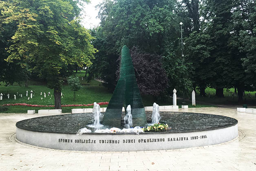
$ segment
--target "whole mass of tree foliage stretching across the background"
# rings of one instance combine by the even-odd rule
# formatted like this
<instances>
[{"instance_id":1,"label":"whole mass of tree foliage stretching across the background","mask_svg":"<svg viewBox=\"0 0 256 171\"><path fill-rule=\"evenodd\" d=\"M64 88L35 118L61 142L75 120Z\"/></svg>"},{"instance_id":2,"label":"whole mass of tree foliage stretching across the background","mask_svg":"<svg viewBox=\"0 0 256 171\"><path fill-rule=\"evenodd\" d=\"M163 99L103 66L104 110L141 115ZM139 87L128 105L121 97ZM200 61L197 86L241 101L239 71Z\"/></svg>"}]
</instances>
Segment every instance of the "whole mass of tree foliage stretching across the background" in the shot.
<instances>
[{"instance_id":1,"label":"whole mass of tree foliage stretching across the background","mask_svg":"<svg viewBox=\"0 0 256 171\"><path fill-rule=\"evenodd\" d=\"M0 81L34 72L60 97L72 66L87 66L88 80L101 79L113 91L126 44L139 47L131 53L145 94L198 88L205 96L211 87L223 97L223 88L235 87L242 103L245 90L256 90L254 0L104 0L97 6L100 26L90 31L95 39L79 24L79 2L0 1Z\"/></svg>"}]
</instances>

